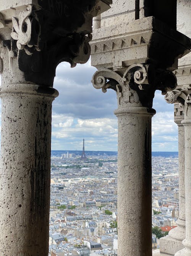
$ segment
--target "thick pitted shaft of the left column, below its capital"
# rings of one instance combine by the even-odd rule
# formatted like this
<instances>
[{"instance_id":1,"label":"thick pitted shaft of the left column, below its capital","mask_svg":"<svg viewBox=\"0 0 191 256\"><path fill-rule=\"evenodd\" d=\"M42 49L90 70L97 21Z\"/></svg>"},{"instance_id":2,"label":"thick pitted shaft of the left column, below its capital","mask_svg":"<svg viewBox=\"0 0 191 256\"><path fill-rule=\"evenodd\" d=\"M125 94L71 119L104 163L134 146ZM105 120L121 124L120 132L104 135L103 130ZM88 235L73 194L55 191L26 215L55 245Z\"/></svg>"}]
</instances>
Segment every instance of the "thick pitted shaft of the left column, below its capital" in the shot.
<instances>
[{"instance_id":1,"label":"thick pitted shaft of the left column, below its capital","mask_svg":"<svg viewBox=\"0 0 191 256\"><path fill-rule=\"evenodd\" d=\"M56 93L46 88L45 94L32 84L7 88L1 89L0 251L4 256L48 255L51 111Z\"/></svg>"}]
</instances>

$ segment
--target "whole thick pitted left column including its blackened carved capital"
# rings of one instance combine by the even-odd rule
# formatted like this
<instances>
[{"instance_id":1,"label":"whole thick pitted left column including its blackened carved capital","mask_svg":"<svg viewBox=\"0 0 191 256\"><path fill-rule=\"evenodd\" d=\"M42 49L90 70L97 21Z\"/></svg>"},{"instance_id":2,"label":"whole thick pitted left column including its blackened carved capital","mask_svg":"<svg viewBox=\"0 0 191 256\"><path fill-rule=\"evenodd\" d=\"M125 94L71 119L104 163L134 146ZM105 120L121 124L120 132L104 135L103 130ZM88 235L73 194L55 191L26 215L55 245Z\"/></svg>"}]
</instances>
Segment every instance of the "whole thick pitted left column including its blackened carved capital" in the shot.
<instances>
[{"instance_id":1,"label":"whole thick pitted left column including its blackened carved capital","mask_svg":"<svg viewBox=\"0 0 191 256\"><path fill-rule=\"evenodd\" d=\"M55 69L61 61L75 66L89 59L92 18L109 3L0 0L3 256L48 255Z\"/></svg>"}]
</instances>

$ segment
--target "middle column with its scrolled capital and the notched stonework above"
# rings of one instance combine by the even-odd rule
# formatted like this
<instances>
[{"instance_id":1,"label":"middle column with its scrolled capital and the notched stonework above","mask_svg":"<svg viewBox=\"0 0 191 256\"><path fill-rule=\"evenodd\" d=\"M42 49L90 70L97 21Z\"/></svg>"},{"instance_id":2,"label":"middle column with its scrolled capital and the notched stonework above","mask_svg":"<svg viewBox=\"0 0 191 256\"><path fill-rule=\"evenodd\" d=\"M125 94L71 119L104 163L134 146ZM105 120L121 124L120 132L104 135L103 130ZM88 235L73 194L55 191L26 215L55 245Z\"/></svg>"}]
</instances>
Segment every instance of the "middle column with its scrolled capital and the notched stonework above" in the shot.
<instances>
[{"instance_id":1,"label":"middle column with its scrolled capital and the notched stonework above","mask_svg":"<svg viewBox=\"0 0 191 256\"><path fill-rule=\"evenodd\" d=\"M174 1L164 8L157 0L115 0L93 27L92 83L118 99L118 256L152 255L152 100L155 90L175 88L171 71L189 47L176 31Z\"/></svg>"}]
</instances>

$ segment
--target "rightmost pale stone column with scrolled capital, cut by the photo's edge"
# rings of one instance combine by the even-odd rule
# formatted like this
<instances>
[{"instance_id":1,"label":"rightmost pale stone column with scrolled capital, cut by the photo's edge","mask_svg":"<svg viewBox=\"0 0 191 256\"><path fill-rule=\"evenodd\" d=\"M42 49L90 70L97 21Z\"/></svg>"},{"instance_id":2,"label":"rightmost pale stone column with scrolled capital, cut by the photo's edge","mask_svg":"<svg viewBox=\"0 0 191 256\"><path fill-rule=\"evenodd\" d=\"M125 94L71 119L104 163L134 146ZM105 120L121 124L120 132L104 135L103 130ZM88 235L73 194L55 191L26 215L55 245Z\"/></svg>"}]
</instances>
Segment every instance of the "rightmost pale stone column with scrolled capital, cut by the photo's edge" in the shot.
<instances>
[{"instance_id":1,"label":"rightmost pale stone column with scrolled capital, cut by the photo's edge","mask_svg":"<svg viewBox=\"0 0 191 256\"><path fill-rule=\"evenodd\" d=\"M178 79L180 80L180 79ZM187 83L189 81L189 76L181 76L181 81L184 81ZM184 228L184 220L185 220L185 226L186 226L186 238L183 240L183 246L185 248L176 251L175 256L190 256L191 255L191 213L190 213L190 205L191 205L191 180L190 180L190 169L191 169L191 160L190 160L190 129L191 129L191 86L188 84L184 84L181 86L178 86L177 89L173 90L170 93L167 93L165 96L167 102L175 103L180 102L180 105L183 107L184 111L184 120L181 121L181 139L182 141L185 140L185 152L180 151L180 154L185 153L185 206L184 206L184 188L180 188L180 207L182 207L180 211L180 221L178 222L178 231L180 234L176 233L176 230L174 230L174 233L172 235L176 236L177 240L183 236L183 228ZM184 129L184 130L183 130ZM182 137L184 135L184 138ZM179 150L183 150L183 148L180 145ZM180 162L182 164L184 162ZM181 165L180 165L181 166ZM182 165L183 166L183 165ZM183 171L181 172L183 173ZM184 186L183 178L180 177L180 182L182 186ZM171 235L171 234L170 234ZM177 244L177 243L176 243Z\"/></svg>"}]
</instances>

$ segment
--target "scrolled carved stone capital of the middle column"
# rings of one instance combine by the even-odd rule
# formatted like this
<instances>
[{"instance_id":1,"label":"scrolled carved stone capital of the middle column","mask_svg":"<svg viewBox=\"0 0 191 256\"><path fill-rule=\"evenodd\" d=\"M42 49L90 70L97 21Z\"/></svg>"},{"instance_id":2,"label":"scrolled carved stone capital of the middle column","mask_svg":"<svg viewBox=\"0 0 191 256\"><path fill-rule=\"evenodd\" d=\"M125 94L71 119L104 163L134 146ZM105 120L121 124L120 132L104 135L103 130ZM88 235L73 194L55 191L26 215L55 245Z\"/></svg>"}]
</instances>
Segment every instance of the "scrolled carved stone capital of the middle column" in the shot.
<instances>
[{"instance_id":1,"label":"scrolled carved stone capital of the middle column","mask_svg":"<svg viewBox=\"0 0 191 256\"><path fill-rule=\"evenodd\" d=\"M99 69L92 78L96 89L113 89L117 93L118 107L152 107L155 90L165 94L176 87L176 77L172 72L156 73L152 64L133 64L123 75L110 69Z\"/></svg>"}]
</instances>

